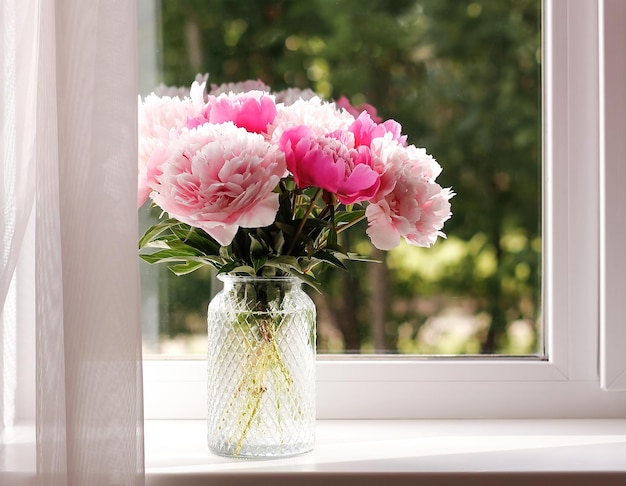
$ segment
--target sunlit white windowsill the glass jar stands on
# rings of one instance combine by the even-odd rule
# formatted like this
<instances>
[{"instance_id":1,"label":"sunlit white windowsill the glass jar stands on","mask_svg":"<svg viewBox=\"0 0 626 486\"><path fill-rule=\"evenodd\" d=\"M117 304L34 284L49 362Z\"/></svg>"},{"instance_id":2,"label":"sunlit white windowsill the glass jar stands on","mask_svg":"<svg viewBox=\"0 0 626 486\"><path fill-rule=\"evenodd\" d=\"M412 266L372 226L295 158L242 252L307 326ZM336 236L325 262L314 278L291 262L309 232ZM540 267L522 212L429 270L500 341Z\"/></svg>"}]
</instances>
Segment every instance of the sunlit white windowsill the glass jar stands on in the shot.
<instances>
[{"instance_id":1,"label":"sunlit white windowsill the glass jar stands on","mask_svg":"<svg viewBox=\"0 0 626 486\"><path fill-rule=\"evenodd\" d=\"M625 419L323 420L313 452L267 461L212 455L201 420L150 420L145 434L147 486L626 484Z\"/></svg>"}]
</instances>

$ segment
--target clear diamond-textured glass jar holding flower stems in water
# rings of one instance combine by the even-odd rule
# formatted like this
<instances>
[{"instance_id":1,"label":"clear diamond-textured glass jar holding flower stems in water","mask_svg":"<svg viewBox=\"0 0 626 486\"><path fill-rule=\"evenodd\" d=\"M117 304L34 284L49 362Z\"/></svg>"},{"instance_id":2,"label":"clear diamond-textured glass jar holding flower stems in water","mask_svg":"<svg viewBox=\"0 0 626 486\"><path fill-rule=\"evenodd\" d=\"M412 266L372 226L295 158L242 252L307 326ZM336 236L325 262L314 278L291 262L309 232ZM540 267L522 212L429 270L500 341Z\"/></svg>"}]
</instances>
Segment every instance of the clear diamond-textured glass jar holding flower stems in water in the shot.
<instances>
[{"instance_id":1,"label":"clear diamond-textured glass jar holding flower stems in water","mask_svg":"<svg viewBox=\"0 0 626 486\"><path fill-rule=\"evenodd\" d=\"M208 312L208 444L280 457L315 442L315 305L292 277L220 275Z\"/></svg>"}]
</instances>

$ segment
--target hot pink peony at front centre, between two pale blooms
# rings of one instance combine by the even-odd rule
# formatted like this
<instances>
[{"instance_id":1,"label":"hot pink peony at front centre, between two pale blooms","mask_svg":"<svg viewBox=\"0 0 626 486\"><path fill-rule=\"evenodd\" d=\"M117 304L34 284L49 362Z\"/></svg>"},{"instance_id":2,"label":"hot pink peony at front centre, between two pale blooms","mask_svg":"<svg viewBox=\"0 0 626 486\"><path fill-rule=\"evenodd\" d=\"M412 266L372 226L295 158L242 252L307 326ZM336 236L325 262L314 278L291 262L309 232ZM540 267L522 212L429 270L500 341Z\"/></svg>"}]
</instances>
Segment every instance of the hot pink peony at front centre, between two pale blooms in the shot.
<instances>
[{"instance_id":1,"label":"hot pink peony at front centre, between two pale blooms","mask_svg":"<svg viewBox=\"0 0 626 486\"><path fill-rule=\"evenodd\" d=\"M316 137L306 126L283 133L279 147L298 187L322 188L336 194L343 204L367 201L376 194L380 177L372 168L369 150L354 149L347 135L335 132Z\"/></svg>"}]
</instances>

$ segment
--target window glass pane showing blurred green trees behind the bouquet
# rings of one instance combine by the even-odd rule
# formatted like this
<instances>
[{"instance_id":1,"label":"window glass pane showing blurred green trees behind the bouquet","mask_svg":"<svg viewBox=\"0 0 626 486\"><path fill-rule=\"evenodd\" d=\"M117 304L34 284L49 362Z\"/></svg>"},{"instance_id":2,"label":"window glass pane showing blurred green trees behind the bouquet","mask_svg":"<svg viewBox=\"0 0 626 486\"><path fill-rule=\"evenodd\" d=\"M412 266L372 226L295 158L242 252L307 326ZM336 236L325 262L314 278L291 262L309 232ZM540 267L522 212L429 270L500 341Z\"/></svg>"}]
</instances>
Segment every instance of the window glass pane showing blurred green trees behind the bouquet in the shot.
<instances>
[{"instance_id":1,"label":"window glass pane showing blurred green trees behind the bouquet","mask_svg":"<svg viewBox=\"0 0 626 486\"><path fill-rule=\"evenodd\" d=\"M141 0L140 90L259 79L369 103L452 187L446 240L312 292L320 353L542 355L540 0ZM158 213L140 209L142 225ZM210 269L142 263L146 353L205 352Z\"/></svg>"}]
</instances>

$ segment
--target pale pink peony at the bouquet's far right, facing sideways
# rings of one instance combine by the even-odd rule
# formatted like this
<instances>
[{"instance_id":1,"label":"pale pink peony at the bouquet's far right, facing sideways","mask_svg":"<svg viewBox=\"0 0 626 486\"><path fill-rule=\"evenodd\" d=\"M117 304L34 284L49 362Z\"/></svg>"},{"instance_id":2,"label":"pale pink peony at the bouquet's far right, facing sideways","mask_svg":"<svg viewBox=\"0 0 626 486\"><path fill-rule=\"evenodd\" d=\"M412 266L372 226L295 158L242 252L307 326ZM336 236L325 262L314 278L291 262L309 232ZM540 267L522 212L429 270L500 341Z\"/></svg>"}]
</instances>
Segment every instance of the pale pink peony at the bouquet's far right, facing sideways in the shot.
<instances>
[{"instance_id":1,"label":"pale pink peony at the bouquet's far right, facing sideways","mask_svg":"<svg viewBox=\"0 0 626 486\"><path fill-rule=\"evenodd\" d=\"M384 164L380 190L365 210L367 234L379 250L407 243L429 247L452 213L454 193L435 182L441 167L424 149L402 147L389 138L373 142L372 152Z\"/></svg>"}]
</instances>

